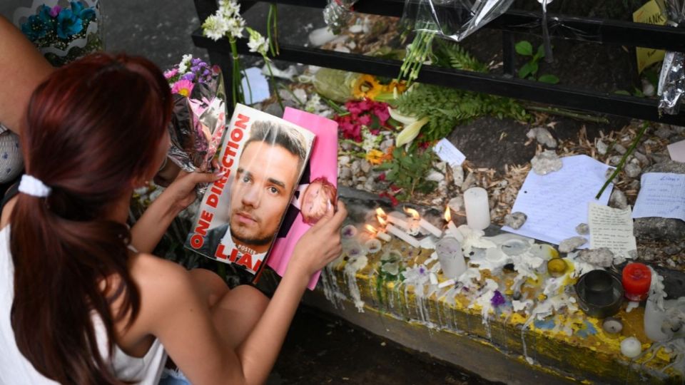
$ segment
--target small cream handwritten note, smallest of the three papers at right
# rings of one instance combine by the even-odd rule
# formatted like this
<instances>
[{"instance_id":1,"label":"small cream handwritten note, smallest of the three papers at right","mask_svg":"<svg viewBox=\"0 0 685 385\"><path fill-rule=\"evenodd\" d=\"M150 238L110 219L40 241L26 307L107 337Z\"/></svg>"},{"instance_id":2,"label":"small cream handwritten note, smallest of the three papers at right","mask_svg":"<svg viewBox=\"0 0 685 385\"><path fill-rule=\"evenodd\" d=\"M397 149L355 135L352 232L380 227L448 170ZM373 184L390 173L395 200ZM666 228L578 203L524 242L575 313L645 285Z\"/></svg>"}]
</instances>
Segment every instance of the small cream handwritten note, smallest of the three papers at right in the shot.
<instances>
[{"instance_id":1,"label":"small cream handwritten note, smallest of the three papers at right","mask_svg":"<svg viewBox=\"0 0 685 385\"><path fill-rule=\"evenodd\" d=\"M607 247L614 255L626 258L630 250L637 250L630 207L621 210L591 202L587 216L590 247Z\"/></svg>"}]
</instances>

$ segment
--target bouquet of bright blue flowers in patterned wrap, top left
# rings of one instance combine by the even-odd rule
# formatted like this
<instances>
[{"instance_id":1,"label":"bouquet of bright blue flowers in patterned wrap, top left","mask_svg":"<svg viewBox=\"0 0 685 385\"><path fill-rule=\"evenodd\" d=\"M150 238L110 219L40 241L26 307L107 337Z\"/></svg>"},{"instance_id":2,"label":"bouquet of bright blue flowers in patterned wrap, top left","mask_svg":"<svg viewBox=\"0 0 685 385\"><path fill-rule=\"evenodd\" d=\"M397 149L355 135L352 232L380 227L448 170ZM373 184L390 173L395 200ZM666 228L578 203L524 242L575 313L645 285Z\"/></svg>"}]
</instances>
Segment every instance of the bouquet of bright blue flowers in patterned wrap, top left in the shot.
<instances>
[{"instance_id":1,"label":"bouquet of bright blue flowers in patterned wrap, top left","mask_svg":"<svg viewBox=\"0 0 685 385\"><path fill-rule=\"evenodd\" d=\"M54 3L54 4L53 4ZM36 9L21 8L14 13L14 24L43 53L53 66L103 48L98 26L98 0L71 1L63 8L51 0Z\"/></svg>"}]
</instances>

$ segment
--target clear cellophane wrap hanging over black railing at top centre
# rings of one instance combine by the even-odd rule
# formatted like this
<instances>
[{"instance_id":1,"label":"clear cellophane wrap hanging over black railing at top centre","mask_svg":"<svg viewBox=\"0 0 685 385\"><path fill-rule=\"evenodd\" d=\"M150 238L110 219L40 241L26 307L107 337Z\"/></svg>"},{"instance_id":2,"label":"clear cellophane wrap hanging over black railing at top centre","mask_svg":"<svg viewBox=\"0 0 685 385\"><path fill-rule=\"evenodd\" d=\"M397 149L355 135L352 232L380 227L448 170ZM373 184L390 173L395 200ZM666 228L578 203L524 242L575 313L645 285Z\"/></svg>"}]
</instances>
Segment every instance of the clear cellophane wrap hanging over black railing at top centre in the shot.
<instances>
[{"instance_id":1,"label":"clear cellophane wrap hanging over black railing at top centre","mask_svg":"<svg viewBox=\"0 0 685 385\"><path fill-rule=\"evenodd\" d=\"M402 23L414 31L429 31L445 39L466 36L504 14L514 0L405 0Z\"/></svg>"}]
</instances>

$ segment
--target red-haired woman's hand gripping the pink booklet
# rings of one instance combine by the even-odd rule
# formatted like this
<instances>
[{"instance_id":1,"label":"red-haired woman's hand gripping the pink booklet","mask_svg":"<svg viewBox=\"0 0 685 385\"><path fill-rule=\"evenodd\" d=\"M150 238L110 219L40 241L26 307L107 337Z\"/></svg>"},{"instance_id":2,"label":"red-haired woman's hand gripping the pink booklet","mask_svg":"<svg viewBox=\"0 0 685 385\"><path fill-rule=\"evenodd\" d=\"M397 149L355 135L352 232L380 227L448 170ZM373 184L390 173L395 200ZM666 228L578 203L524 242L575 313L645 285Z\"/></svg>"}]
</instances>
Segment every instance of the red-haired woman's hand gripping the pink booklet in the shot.
<instances>
[{"instance_id":1,"label":"red-haired woman's hand gripping the pink booklet","mask_svg":"<svg viewBox=\"0 0 685 385\"><path fill-rule=\"evenodd\" d=\"M298 240L288 270L302 272L309 278L340 256L340 225L345 217L345 204L338 201L338 212L333 214L331 207L331 210Z\"/></svg>"}]
</instances>

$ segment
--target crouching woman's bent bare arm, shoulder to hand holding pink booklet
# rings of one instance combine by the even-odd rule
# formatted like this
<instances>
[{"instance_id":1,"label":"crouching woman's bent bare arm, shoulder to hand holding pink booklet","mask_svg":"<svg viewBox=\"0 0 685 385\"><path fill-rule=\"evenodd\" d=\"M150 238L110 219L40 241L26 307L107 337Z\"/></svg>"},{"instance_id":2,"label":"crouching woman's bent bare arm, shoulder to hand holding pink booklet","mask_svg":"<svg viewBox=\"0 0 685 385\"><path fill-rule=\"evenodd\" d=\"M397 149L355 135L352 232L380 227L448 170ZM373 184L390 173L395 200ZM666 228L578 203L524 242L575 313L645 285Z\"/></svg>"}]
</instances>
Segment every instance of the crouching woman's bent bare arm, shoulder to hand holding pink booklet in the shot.
<instances>
[{"instance_id":1,"label":"crouching woman's bent bare arm, shoulder to hand holding pink booklet","mask_svg":"<svg viewBox=\"0 0 685 385\"><path fill-rule=\"evenodd\" d=\"M335 215L321 220L300 238L273 299L237 348L232 327L239 315L222 309L220 302L210 312L205 299L181 272L157 283L154 279L141 283L141 309L146 310L136 322L151 325L151 334L161 339L193 384L263 384L311 275L340 255L340 225L345 215L340 204ZM151 296L161 299L155 301ZM152 308L159 310L151 314Z\"/></svg>"}]
</instances>

